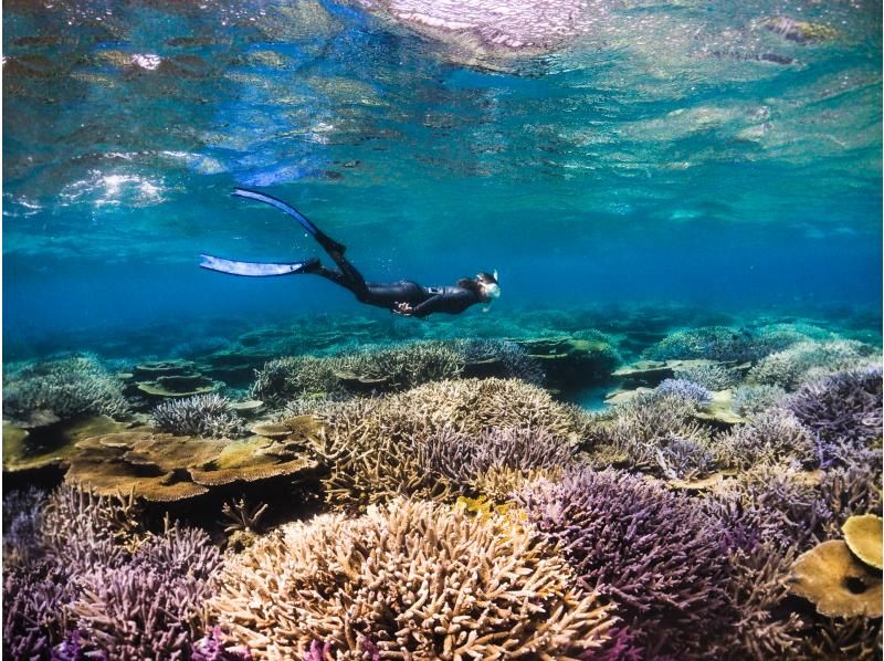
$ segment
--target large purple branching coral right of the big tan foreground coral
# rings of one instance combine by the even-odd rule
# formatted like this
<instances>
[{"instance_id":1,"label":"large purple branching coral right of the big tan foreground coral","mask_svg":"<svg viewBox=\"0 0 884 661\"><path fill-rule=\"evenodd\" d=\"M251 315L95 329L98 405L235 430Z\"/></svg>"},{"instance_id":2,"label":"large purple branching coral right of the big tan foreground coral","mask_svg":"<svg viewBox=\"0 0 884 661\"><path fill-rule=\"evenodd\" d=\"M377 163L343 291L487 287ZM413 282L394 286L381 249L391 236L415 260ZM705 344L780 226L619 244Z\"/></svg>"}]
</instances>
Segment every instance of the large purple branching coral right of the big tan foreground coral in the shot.
<instances>
[{"instance_id":1,"label":"large purple branching coral right of the big tan foreground coral","mask_svg":"<svg viewBox=\"0 0 884 661\"><path fill-rule=\"evenodd\" d=\"M518 500L579 585L610 596L648 653L684 658L728 628L722 529L685 496L613 471L573 470ZM649 570L653 567L653 570Z\"/></svg>"}]
</instances>

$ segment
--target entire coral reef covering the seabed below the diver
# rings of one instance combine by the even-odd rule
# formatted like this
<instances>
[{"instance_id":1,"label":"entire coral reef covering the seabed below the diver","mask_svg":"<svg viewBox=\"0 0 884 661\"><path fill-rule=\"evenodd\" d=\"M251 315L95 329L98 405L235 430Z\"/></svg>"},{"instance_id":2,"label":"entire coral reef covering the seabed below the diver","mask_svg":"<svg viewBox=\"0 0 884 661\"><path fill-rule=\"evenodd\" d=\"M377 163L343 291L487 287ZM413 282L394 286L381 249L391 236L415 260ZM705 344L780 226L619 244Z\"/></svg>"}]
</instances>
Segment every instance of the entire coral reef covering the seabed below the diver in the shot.
<instances>
[{"instance_id":1,"label":"entire coral reef covering the seabed below the diver","mask_svg":"<svg viewBox=\"0 0 884 661\"><path fill-rule=\"evenodd\" d=\"M4 655L880 658L876 349L587 318L10 366Z\"/></svg>"}]
</instances>

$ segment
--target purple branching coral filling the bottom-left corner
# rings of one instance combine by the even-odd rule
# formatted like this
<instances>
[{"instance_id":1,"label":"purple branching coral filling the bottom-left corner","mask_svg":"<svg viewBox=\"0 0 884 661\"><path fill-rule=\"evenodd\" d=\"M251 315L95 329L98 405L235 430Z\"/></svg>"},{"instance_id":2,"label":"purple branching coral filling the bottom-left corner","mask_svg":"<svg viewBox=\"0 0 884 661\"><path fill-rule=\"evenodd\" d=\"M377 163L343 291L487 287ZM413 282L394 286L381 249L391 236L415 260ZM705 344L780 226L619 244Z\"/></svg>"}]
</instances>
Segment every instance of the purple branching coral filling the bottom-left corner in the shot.
<instances>
[{"instance_id":1,"label":"purple branching coral filling the bottom-left corner","mask_svg":"<svg viewBox=\"0 0 884 661\"><path fill-rule=\"evenodd\" d=\"M4 555L17 558L3 585L10 654L170 659L190 649L220 550L200 531L146 533L134 506L69 486L40 505L31 552Z\"/></svg>"}]
</instances>

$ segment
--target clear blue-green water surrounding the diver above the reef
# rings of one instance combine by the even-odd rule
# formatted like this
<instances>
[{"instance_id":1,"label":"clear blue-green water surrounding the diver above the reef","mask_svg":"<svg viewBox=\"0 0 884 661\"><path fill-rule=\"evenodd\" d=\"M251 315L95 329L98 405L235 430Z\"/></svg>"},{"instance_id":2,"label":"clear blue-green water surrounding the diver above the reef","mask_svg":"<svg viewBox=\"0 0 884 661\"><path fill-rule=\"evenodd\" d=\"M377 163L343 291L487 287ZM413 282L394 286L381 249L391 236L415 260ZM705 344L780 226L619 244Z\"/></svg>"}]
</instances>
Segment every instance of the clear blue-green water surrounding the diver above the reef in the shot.
<instances>
[{"instance_id":1,"label":"clear blue-green water surrounding the diver above the reef","mask_svg":"<svg viewBox=\"0 0 884 661\"><path fill-rule=\"evenodd\" d=\"M330 0L4 3L8 354L387 314L314 277L198 269L318 254L234 186L290 201L369 280L499 270L490 319L674 303L876 326L880 2L604 9L491 70ZM834 35L790 41L777 15Z\"/></svg>"}]
</instances>

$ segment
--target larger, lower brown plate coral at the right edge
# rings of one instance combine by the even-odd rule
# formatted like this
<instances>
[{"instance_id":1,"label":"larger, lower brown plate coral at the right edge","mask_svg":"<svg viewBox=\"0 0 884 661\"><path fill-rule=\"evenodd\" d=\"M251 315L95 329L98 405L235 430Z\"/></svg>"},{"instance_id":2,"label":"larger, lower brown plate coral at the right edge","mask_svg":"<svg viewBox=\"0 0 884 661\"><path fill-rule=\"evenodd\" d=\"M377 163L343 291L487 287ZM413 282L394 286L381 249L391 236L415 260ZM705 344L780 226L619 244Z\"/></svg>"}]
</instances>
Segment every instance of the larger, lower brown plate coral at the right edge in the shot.
<instances>
[{"instance_id":1,"label":"larger, lower brown plate coral at the right edge","mask_svg":"<svg viewBox=\"0 0 884 661\"><path fill-rule=\"evenodd\" d=\"M831 539L801 554L792 566L792 592L829 617L882 616L881 575L872 574L846 543Z\"/></svg>"}]
</instances>

